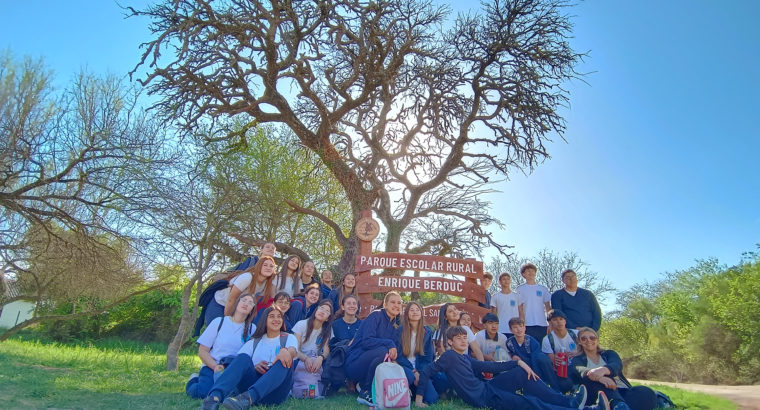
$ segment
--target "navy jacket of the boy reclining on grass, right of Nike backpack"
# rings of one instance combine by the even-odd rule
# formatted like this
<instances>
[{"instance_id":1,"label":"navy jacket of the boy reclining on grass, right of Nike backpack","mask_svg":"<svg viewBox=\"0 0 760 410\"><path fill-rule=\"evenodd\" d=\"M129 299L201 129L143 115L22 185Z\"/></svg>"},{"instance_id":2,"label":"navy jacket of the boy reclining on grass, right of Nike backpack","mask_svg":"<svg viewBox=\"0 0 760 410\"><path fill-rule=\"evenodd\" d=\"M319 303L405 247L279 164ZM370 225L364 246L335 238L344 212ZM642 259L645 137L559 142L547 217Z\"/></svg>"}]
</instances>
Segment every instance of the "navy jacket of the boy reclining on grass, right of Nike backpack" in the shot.
<instances>
[{"instance_id":1,"label":"navy jacket of the boy reclining on grass, right of Nike backpack","mask_svg":"<svg viewBox=\"0 0 760 410\"><path fill-rule=\"evenodd\" d=\"M482 372L501 373L517 366L517 362L481 362L468 354L459 354L455 350L447 350L433 364L420 372L417 383L417 395L423 396L428 380L438 373L445 372L446 378L454 387L459 398L474 407L484 407L486 398L493 395L491 383L486 383L476 376Z\"/></svg>"}]
</instances>

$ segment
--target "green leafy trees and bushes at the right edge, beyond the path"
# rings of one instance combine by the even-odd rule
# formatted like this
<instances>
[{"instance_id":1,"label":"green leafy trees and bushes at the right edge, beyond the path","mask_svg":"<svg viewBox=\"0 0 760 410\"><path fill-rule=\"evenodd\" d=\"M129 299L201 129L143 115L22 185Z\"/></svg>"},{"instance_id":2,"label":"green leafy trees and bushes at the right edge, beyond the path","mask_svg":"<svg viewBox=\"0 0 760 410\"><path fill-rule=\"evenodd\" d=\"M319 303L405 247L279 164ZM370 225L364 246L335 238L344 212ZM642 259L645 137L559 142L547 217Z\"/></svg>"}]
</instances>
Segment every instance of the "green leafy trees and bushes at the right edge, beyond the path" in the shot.
<instances>
[{"instance_id":1,"label":"green leafy trees and bushes at the right edge, beyond the path","mask_svg":"<svg viewBox=\"0 0 760 410\"><path fill-rule=\"evenodd\" d=\"M630 377L760 382L760 253L733 267L698 261L619 293L618 304L602 326L602 346L620 353Z\"/></svg>"}]
</instances>

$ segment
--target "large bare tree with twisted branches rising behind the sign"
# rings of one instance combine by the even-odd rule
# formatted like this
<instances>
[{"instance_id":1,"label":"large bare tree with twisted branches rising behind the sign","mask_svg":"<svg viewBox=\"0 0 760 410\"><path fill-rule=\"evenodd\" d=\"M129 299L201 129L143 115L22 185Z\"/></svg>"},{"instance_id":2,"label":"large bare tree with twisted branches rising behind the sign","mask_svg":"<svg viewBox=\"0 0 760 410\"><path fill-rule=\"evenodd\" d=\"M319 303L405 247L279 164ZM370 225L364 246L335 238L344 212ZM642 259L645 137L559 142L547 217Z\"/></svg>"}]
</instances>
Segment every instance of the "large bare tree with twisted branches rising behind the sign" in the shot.
<instances>
[{"instance_id":1,"label":"large bare tree with twisted branches rising behind the sign","mask_svg":"<svg viewBox=\"0 0 760 410\"><path fill-rule=\"evenodd\" d=\"M285 125L341 184L352 224L375 211L386 251L413 221L442 216L504 250L486 210L453 199L531 170L562 135L563 83L583 57L568 43L567 6L495 0L449 26L448 8L424 0L167 0L130 14L148 17L155 36L135 70L150 67L143 83L164 97L156 107L188 131L224 116ZM352 269L353 225L294 209L332 228L340 268Z\"/></svg>"}]
</instances>

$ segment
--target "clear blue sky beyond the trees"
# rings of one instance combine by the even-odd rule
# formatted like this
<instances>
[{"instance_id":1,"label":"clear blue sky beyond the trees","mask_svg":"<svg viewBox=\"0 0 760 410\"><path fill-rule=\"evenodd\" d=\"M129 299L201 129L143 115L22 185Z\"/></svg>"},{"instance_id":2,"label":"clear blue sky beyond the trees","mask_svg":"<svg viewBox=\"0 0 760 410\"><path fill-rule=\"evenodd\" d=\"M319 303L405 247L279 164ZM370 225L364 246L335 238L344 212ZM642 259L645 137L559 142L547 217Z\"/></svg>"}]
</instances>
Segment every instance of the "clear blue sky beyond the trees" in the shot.
<instances>
[{"instance_id":1,"label":"clear blue sky beyond the trees","mask_svg":"<svg viewBox=\"0 0 760 410\"><path fill-rule=\"evenodd\" d=\"M760 242L760 2L572 13L588 84L569 85L567 143L491 196L497 238L521 256L577 251L621 289L699 258L737 262ZM0 21L0 48L44 57L59 84L83 67L126 73L149 39L109 1L3 2Z\"/></svg>"}]
</instances>

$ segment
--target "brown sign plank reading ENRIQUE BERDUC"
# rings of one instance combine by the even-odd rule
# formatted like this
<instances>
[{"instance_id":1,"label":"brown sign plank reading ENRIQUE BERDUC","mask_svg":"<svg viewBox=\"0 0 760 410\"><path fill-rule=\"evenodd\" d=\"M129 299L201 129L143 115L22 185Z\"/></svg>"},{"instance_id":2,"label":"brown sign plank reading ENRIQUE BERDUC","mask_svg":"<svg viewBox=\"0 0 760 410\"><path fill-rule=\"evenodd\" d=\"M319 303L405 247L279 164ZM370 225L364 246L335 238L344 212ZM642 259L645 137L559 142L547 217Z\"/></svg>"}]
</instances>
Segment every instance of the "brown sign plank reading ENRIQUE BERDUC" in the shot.
<instances>
[{"instance_id":1,"label":"brown sign plank reading ENRIQUE BERDUC","mask_svg":"<svg viewBox=\"0 0 760 410\"><path fill-rule=\"evenodd\" d=\"M432 277L363 275L356 286L364 292L438 292L485 302L486 290L475 283Z\"/></svg>"}]
</instances>

